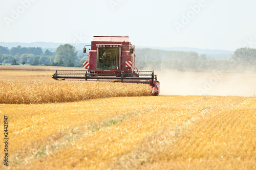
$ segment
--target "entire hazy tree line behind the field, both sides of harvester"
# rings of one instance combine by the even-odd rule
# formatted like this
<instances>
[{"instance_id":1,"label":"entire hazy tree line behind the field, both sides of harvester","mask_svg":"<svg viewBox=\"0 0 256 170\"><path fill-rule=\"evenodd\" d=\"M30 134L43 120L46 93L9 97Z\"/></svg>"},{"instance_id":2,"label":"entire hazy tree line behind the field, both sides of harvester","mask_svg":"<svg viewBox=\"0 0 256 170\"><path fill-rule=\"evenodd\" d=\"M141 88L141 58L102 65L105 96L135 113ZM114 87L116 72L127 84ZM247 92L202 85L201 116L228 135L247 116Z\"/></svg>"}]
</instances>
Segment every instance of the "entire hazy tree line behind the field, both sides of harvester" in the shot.
<instances>
[{"instance_id":1,"label":"entire hazy tree line behind the field, both sides of harvester","mask_svg":"<svg viewBox=\"0 0 256 170\"><path fill-rule=\"evenodd\" d=\"M172 69L179 71L256 71L256 49L239 48L226 60L213 60L197 52L164 51L152 48L136 49L135 66L145 69ZM55 52L42 51L41 47L7 47L0 46L0 63L76 66L88 61L86 54L78 55L76 48L70 44L57 47Z\"/></svg>"}]
</instances>

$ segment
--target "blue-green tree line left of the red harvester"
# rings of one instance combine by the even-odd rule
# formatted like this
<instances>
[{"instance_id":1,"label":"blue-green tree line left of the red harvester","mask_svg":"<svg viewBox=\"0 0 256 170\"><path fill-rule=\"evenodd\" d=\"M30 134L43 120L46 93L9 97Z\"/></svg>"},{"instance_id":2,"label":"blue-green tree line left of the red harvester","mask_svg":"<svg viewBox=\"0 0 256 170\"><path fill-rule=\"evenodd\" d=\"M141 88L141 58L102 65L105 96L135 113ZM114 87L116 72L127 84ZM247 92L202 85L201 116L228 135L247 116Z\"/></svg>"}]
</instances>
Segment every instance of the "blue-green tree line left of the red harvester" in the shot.
<instances>
[{"instance_id":1,"label":"blue-green tree line left of the red harvester","mask_svg":"<svg viewBox=\"0 0 256 170\"><path fill-rule=\"evenodd\" d=\"M73 45L60 45L55 52L48 49L43 52L41 47L8 47L0 46L0 65L11 63L12 65L53 65L81 67L82 61L87 61L84 54L77 55Z\"/></svg>"}]
</instances>

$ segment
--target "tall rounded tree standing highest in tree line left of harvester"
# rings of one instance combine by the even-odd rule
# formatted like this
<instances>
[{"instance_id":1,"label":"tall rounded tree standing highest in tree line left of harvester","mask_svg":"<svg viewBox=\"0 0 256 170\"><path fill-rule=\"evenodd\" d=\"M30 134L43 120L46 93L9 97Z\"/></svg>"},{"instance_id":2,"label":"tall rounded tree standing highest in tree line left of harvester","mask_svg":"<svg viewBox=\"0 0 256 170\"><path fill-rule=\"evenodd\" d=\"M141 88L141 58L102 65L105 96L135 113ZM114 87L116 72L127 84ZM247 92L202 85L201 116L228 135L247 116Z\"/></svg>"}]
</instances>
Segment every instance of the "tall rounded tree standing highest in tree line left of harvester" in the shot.
<instances>
[{"instance_id":1,"label":"tall rounded tree standing highest in tree line left of harvester","mask_svg":"<svg viewBox=\"0 0 256 170\"><path fill-rule=\"evenodd\" d=\"M68 65L70 60L73 63L76 61L76 57L77 57L76 55L77 55L77 51L73 45L70 45L70 44L60 45L56 49L56 56L54 58L54 62L55 63L58 62L60 64L60 60L62 60L64 65Z\"/></svg>"}]
</instances>

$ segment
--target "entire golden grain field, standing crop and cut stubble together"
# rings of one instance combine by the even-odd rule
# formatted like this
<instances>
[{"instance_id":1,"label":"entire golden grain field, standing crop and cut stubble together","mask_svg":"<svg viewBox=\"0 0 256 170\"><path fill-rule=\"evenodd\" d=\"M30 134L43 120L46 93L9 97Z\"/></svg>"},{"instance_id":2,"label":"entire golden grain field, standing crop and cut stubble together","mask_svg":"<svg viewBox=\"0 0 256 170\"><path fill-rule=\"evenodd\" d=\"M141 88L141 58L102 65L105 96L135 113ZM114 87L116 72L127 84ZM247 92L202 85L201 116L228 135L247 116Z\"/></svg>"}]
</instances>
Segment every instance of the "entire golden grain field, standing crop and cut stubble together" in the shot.
<instances>
[{"instance_id":1,"label":"entire golden grain field, standing crop and cut stubble together","mask_svg":"<svg viewBox=\"0 0 256 170\"><path fill-rule=\"evenodd\" d=\"M0 71L1 127L4 115L8 116L10 138L9 166L2 163L1 167L253 169L256 166L253 96L150 96L146 86L54 81L52 74L53 71L47 70ZM84 97L88 95L86 90L79 95L82 88L95 90L93 87L97 87L92 91L93 98ZM112 88L118 90L112 94ZM54 89L55 92L49 92ZM99 90L102 91L97 93ZM125 96L125 92L130 96ZM104 95L97 99L101 94ZM36 100L38 96L41 100ZM2 139L3 134L4 129ZM2 148L0 153L3 158Z\"/></svg>"}]
</instances>

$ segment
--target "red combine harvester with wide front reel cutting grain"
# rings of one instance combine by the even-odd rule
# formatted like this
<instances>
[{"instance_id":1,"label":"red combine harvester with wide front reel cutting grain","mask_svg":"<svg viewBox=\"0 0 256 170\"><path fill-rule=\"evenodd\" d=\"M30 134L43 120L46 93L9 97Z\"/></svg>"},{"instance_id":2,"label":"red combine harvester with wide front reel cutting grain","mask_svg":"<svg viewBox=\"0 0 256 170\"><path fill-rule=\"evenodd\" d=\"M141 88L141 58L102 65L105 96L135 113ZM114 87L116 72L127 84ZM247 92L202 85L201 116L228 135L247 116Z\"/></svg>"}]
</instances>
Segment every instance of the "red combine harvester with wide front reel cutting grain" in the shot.
<instances>
[{"instance_id":1,"label":"red combine harvester with wide front reel cutting grain","mask_svg":"<svg viewBox=\"0 0 256 170\"><path fill-rule=\"evenodd\" d=\"M94 36L85 70L56 70L53 79L86 80L125 83L147 83L152 94L159 94L160 83L153 71L138 71L135 67L135 45L129 37ZM83 53L86 53L86 46Z\"/></svg>"}]
</instances>

